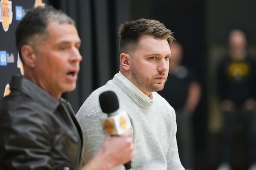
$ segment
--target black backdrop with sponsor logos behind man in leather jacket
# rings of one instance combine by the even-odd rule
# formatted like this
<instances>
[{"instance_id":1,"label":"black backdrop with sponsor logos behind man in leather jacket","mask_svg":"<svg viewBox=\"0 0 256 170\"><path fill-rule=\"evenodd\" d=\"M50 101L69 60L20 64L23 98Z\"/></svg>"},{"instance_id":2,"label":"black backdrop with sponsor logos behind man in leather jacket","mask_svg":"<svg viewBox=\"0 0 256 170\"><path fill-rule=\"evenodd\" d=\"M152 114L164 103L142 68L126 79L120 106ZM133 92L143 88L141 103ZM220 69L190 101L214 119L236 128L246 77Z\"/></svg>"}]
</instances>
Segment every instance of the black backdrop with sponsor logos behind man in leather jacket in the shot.
<instances>
[{"instance_id":1,"label":"black backdrop with sponsor logos behind man in leather jacket","mask_svg":"<svg viewBox=\"0 0 256 170\"><path fill-rule=\"evenodd\" d=\"M10 93L13 74L23 74L15 46L15 29L28 8L44 6L48 0L0 0L0 99Z\"/></svg>"}]
</instances>

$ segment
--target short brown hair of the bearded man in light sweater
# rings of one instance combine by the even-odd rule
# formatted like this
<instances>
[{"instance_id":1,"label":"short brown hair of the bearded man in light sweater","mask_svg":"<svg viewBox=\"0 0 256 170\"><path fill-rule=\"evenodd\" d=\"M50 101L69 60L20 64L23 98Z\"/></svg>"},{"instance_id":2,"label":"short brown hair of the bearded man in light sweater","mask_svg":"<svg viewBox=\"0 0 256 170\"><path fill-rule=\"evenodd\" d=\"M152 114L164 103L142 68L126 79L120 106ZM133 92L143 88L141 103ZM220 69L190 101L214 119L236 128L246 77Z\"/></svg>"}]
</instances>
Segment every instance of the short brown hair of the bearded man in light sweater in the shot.
<instances>
[{"instance_id":1,"label":"short brown hair of the bearded man in light sweater","mask_svg":"<svg viewBox=\"0 0 256 170\"><path fill-rule=\"evenodd\" d=\"M119 51L121 53L126 53L128 50L135 48L144 35L166 39L169 43L175 40L172 36L173 32L167 29L163 23L145 18L122 24L119 27L118 34L120 36Z\"/></svg>"}]
</instances>

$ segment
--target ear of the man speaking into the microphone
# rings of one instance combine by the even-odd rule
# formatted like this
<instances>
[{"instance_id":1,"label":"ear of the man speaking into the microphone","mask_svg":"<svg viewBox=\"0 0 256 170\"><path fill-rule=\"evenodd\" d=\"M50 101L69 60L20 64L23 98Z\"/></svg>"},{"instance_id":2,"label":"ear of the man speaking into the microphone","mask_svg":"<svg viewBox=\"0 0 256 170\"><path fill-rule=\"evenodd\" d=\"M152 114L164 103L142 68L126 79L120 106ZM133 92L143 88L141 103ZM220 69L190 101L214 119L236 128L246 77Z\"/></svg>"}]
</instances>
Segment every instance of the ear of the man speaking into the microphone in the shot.
<instances>
[{"instance_id":1,"label":"ear of the man speaking into the microphone","mask_svg":"<svg viewBox=\"0 0 256 170\"><path fill-rule=\"evenodd\" d=\"M27 65L29 67L35 66L35 50L30 45L23 45L21 47L21 55L24 65Z\"/></svg>"}]
</instances>

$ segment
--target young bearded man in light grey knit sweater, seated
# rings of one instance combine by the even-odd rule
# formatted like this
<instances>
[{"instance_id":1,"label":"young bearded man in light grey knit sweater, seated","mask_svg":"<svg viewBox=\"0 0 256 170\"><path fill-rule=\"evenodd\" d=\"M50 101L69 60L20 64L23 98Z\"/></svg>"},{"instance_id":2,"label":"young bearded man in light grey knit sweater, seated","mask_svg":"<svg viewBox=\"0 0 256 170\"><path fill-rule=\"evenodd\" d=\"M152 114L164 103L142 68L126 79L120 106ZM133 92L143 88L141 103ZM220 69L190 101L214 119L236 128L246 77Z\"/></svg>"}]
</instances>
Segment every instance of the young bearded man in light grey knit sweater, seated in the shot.
<instances>
[{"instance_id":1,"label":"young bearded man in light grey knit sweater, seated","mask_svg":"<svg viewBox=\"0 0 256 170\"><path fill-rule=\"evenodd\" d=\"M105 135L99 119L106 116L99 95L113 91L119 109L127 111L136 155L133 170L184 170L176 142L175 111L157 91L164 88L174 41L172 31L156 20L139 19L119 28L120 71L86 99L77 113L84 130L85 162L99 150ZM124 170L123 166L113 170Z\"/></svg>"}]
</instances>

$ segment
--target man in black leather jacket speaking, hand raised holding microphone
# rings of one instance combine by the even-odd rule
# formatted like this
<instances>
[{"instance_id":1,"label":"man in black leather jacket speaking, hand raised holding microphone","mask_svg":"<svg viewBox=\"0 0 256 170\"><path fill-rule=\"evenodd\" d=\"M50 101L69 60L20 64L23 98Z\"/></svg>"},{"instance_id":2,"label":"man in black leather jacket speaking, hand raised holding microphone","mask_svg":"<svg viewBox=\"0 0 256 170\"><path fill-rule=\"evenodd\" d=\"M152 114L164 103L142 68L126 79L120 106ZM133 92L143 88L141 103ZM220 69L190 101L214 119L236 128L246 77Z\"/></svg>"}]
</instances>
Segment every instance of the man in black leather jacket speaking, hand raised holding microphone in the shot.
<instances>
[{"instance_id":1,"label":"man in black leather jacket speaking, hand raised holding microphone","mask_svg":"<svg viewBox=\"0 0 256 170\"><path fill-rule=\"evenodd\" d=\"M75 22L46 6L26 12L16 29L24 76L13 76L0 100L0 170L77 170L82 131L69 102L81 55ZM131 131L106 136L82 170L108 170L131 160Z\"/></svg>"}]
</instances>

